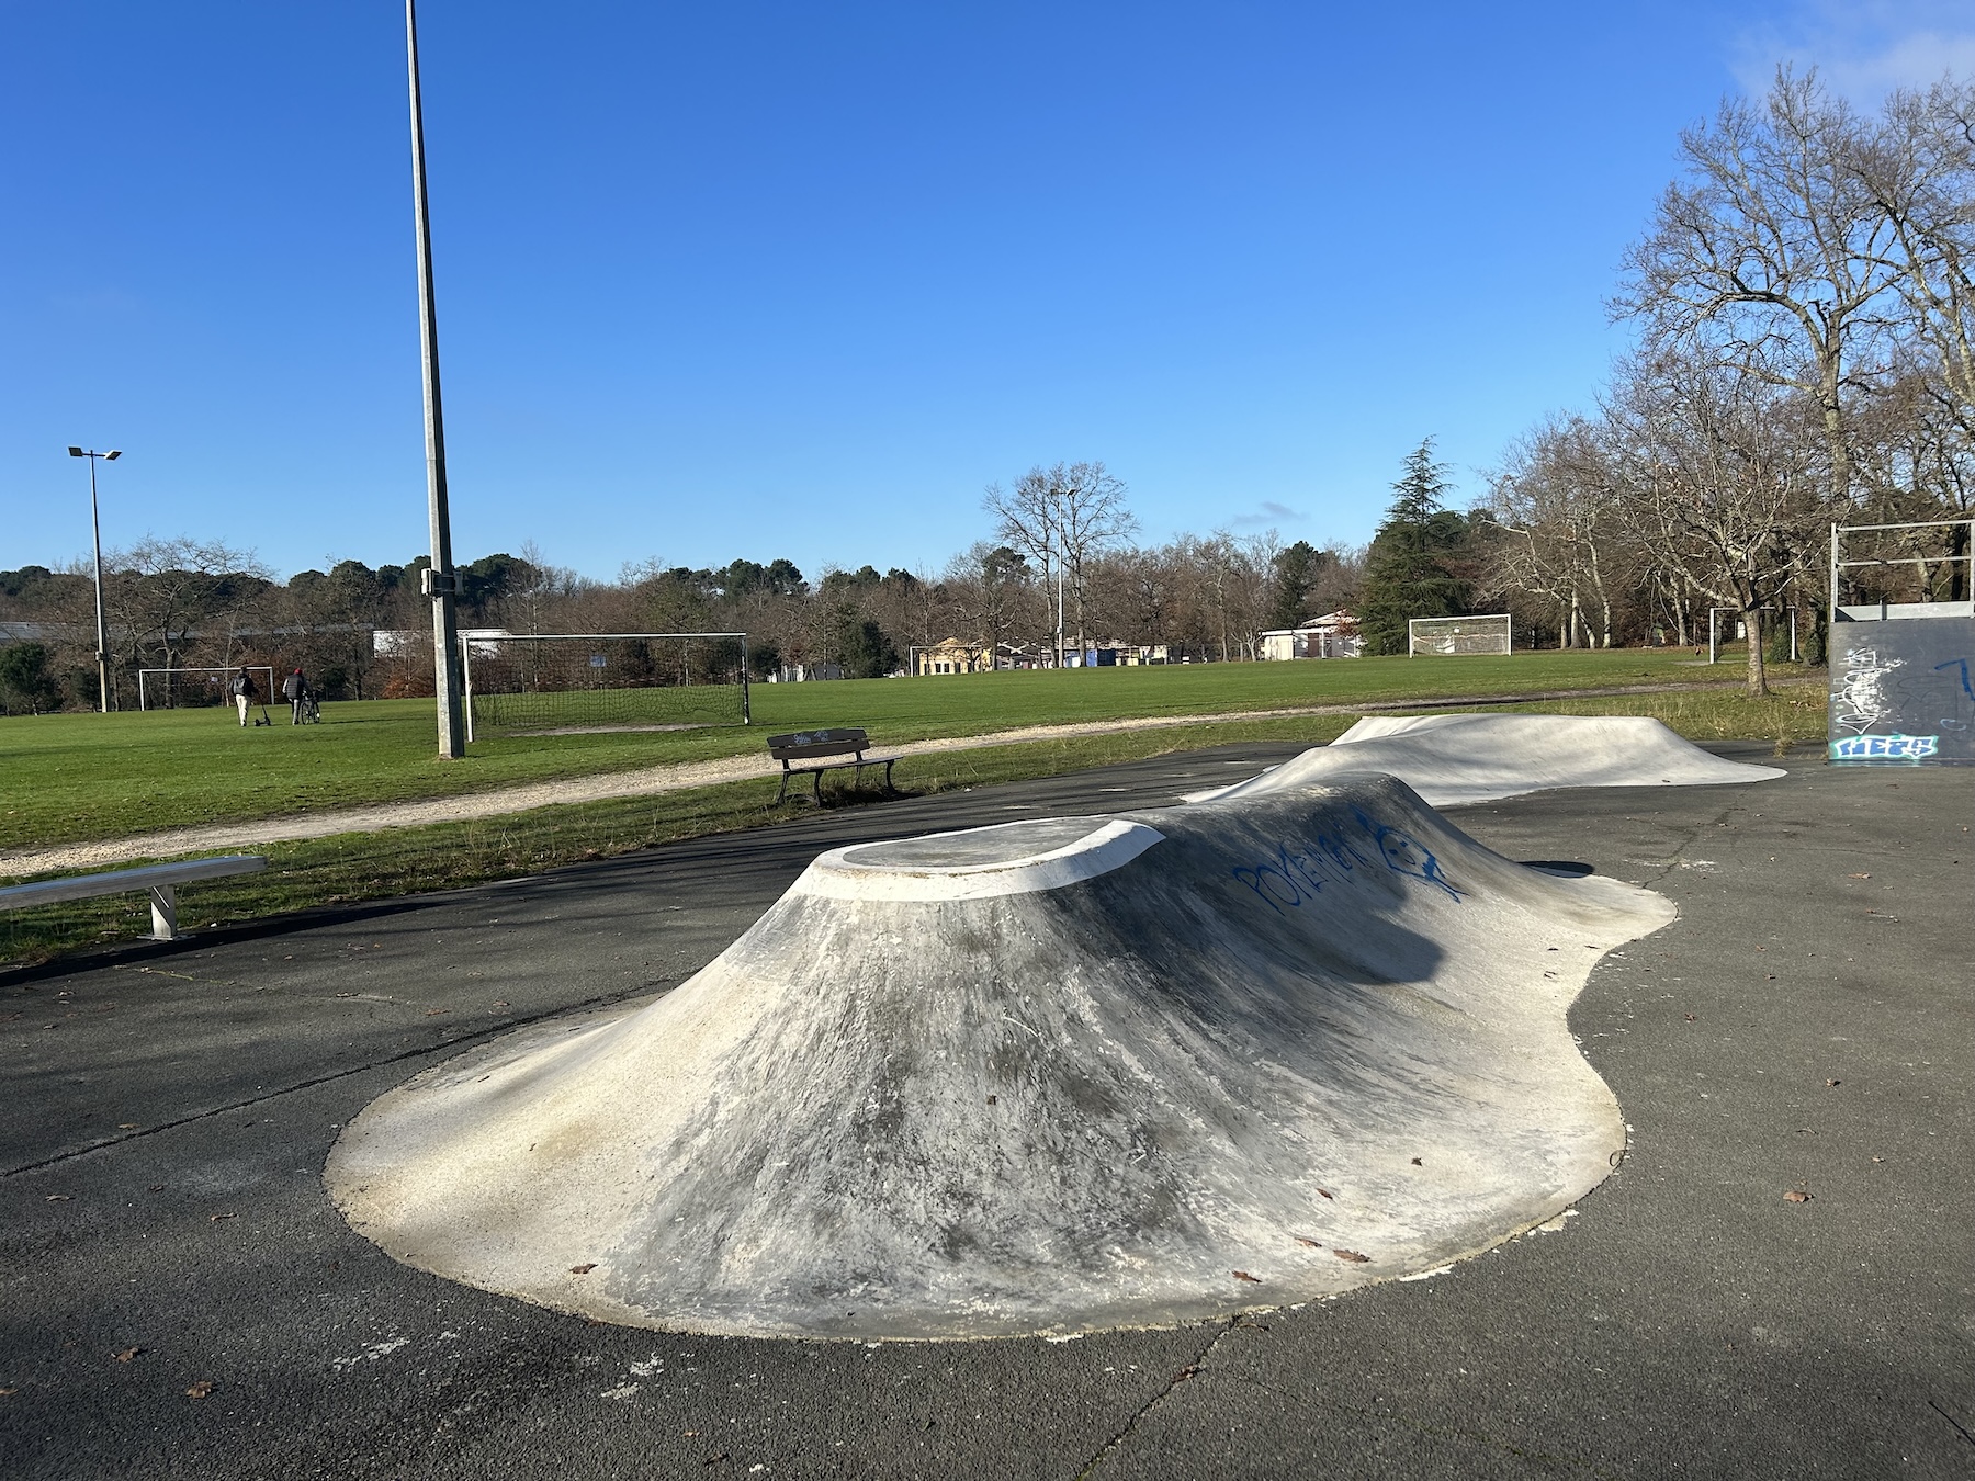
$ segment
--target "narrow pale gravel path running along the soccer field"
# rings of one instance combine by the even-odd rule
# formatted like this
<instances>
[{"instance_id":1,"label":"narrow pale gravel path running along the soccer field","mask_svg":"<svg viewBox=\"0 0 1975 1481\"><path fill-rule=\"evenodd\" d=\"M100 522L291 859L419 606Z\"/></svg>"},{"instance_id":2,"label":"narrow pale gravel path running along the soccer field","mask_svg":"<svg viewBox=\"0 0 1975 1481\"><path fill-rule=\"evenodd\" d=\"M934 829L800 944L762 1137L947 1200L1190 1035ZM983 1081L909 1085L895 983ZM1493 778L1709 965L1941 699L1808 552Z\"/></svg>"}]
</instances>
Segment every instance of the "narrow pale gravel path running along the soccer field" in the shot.
<instances>
[{"instance_id":1,"label":"narrow pale gravel path running along the soccer field","mask_svg":"<svg viewBox=\"0 0 1975 1481\"><path fill-rule=\"evenodd\" d=\"M1221 725L1228 721L1296 719L1304 715L1365 715L1377 711L1465 709L1471 705L1521 705L1544 699L1598 699L1627 693L1669 693L1679 689L1718 689L1722 683L1655 683L1616 689L1556 689L1523 695L1463 695L1460 699L1394 699L1363 705L1311 705L1305 709L1230 711L1223 715L1157 715L1126 721L1084 721L1078 725L1029 725L1017 731L964 735L944 740L910 740L903 746L879 746L887 756L930 756L942 750L976 750L1023 740L1068 740L1086 735L1118 735L1124 731L1163 731L1181 725ZM375 833L385 827L419 827L421 823L454 823L470 818L498 818L529 808L553 808L571 802L604 802L608 798L646 798L660 792L683 792L695 786L745 782L750 776L774 776L780 764L766 754L727 756L723 760L683 762L675 766L646 766L634 772L602 776L569 776L555 782L502 788L498 792L468 792L454 798L425 802L389 802L369 808L340 808L336 812L290 814L259 821L209 823L203 827L172 827L160 833L136 833L93 843L63 843L47 849L0 851L0 873L40 875L49 871L103 869L132 859L164 859L178 853L209 849L247 849L261 843L328 837L332 833Z\"/></svg>"}]
</instances>

